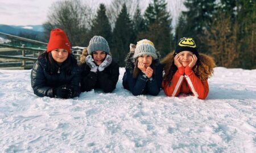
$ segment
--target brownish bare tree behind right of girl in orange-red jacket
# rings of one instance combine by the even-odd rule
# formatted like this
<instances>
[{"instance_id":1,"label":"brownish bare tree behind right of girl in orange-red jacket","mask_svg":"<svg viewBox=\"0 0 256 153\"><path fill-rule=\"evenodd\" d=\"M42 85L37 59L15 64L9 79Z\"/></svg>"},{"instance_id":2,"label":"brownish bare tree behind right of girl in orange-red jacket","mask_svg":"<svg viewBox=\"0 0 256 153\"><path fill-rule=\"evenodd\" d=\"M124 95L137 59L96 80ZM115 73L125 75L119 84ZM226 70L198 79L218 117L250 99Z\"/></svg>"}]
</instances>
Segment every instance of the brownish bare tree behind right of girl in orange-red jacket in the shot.
<instances>
[{"instance_id":1,"label":"brownish bare tree behind right of girl in orange-red jacket","mask_svg":"<svg viewBox=\"0 0 256 153\"><path fill-rule=\"evenodd\" d=\"M237 25L232 25L230 16L223 12L213 22L206 32L207 37L200 37L202 42L208 42L209 51L216 60L217 66L237 67L240 49L237 43Z\"/></svg>"}]
</instances>

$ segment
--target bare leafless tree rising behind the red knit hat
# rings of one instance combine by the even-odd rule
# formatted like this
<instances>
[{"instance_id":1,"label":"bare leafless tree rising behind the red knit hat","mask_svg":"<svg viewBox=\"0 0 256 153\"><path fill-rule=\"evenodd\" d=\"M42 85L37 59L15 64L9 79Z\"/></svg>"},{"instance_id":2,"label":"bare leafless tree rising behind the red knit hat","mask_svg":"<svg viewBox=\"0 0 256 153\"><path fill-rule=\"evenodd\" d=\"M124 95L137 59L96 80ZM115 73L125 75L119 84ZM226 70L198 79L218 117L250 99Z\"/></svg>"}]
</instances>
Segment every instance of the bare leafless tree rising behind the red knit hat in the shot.
<instances>
[{"instance_id":1,"label":"bare leafless tree rising behind the red knit hat","mask_svg":"<svg viewBox=\"0 0 256 153\"><path fill-rule=\"evenodd\" d=\"M88 41L85 35L92 23L91 20L90 8L82 5L80 0L57 1L50 8L44 29L48 37L51 29L62 28L72 45L85 45Z\"/></svg>"}]
</instances>

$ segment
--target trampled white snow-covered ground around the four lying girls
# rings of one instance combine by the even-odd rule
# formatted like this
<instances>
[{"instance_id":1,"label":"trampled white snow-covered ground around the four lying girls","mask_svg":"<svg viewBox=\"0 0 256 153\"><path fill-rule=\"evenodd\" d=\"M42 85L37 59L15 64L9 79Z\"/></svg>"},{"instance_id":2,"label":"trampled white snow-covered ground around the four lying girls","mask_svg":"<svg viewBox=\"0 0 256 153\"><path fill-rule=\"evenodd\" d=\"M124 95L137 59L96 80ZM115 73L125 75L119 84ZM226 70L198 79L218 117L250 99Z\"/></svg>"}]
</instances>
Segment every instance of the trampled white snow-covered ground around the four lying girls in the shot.
<instances>
[{"instance_id":1,"label":"trampled white snow-covered ground around the four lying girls","mask_svg":"<svg viewBox=\"0 0 256 153\"><path fill-rule=\"evenodd\" d=\"M37 97L30 70L0 70L0 152L255 152L256 70L216 67L207 100Z\"/></svg>"}]
</instances>

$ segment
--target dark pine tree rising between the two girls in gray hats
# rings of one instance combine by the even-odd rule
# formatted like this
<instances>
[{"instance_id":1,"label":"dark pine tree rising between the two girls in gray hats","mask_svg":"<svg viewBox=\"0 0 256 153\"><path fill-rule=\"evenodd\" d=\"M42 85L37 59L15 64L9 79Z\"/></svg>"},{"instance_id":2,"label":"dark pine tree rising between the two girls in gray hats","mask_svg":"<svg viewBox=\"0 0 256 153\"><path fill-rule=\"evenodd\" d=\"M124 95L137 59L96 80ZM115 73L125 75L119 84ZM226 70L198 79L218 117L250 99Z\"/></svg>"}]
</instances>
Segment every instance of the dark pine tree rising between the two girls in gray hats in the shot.
<instances>
[{"instance_id":1,"label":"dark pine tree rising between the two girls in gray hats","mask_svg":"<svg viewBox=\"0 0 256 153\"><path fill-rule=\"evenodd\" d=\"M124 4L115 22L113 30L112 55L117 60L119 66L125 66L125 57L129 52L130 43L134 43L133 24L131 22L126 5Z\"/></svg>"}]
</instances>

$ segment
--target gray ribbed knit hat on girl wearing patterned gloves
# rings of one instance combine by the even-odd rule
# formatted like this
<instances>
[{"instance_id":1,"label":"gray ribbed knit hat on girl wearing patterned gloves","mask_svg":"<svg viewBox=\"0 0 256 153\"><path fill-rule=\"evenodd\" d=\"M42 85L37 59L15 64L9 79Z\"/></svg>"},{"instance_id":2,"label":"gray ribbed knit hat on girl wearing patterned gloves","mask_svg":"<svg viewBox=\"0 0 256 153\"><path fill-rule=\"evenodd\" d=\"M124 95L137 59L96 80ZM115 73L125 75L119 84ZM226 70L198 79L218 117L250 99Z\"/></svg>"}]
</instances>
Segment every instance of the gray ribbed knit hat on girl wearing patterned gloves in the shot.
<instances>
[{"instance_id":1,"label":"gray ribbed knit hat on girl wearing patterned gloves","mask_svg":"<svg viewBox=\"0 0 256 153\"><path fill-rule=\"evenodd\" d=\"M108 41L102 36L93 36L92 39L90 39L88 54L92 54L97 50L102 50L108 54L110 52Z\"/></svg>"}]
</instances>

